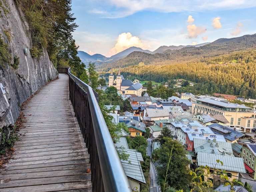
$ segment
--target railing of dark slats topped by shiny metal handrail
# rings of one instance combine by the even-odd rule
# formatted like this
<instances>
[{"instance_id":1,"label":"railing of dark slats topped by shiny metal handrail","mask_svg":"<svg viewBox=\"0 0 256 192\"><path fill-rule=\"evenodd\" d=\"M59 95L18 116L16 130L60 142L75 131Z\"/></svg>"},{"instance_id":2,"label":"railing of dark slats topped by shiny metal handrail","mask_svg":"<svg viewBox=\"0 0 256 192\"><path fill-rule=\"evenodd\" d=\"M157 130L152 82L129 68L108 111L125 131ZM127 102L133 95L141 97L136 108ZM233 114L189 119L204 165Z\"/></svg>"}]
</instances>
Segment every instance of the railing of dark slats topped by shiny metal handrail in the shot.
<instances>
[{"instance_id":1,"label":"railing of dark slats topped by shiny metal handrail","mask_svg":"<svg viewBox=\"0 0 256 192\"><path fill-rule=\"evenodd\" d=\"M90 154L93 191L131 192L128 178L98 105L98 94L73 75L69 67L58 66L57 70L69 75L70 100ZM79 92L78 97L82 95L82 101L74 97L72 90L76 85L72 81L78 85L79 89L75 91ZM87 101L89 106L85 103Z\"/></svg>"}]
</instances>

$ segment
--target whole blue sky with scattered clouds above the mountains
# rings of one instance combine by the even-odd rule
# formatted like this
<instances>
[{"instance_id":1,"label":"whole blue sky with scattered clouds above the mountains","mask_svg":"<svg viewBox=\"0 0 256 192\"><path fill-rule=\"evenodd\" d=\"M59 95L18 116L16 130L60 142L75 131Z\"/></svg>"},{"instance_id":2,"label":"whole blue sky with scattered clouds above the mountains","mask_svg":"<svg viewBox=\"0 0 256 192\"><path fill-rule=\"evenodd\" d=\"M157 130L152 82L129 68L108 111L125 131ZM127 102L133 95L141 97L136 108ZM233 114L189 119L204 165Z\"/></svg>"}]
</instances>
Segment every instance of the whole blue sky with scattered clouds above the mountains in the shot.
<instances>
[{"instance_id":1,"label":"whole blue sky with scattered clouds above the mountains","mask_svg":"<svg viewBox=\"0 0 256 192\"><path fill-rule=\"evenodd\" d=\"M256 33L256 0L73 0L78 50L196 45Z\"/></svg>"}]
</instances>

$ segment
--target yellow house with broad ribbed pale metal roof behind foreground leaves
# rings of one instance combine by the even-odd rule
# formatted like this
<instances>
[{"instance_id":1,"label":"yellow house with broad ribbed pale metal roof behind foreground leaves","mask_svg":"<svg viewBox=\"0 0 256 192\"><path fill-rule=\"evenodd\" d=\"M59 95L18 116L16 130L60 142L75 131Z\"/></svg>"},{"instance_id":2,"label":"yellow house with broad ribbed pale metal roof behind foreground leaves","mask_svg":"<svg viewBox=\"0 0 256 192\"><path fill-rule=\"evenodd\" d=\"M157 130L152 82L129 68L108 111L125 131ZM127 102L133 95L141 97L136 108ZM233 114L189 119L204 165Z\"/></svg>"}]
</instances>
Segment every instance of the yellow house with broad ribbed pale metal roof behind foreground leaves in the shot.
<instances>
[{"instance_id":1,"label":"yellow house with broad ribbed pale metal roof behind foreground leaves","mask_svg":"<svg viewBox=\"0 0 256 192\"><path fill-rule=\"evenodd\" d=\"M223 162L217 163L216 160L220 160ZM197 152L197 165L198 166L209 166L210 167L210 174L208 177L213 180L213 184L215 185L221 178L217 175L213 175L216 169L219 170L226 170L228 179L233 181L233 179L237 179L239 173L246 173L244 162L242 158L229 156L222 154L214 154L214 153L205 153L205 152ZM205 169L205 174L207 174L207 170ZM205 177L207 179L207 177Z\"/></svg>"}]
</instances>

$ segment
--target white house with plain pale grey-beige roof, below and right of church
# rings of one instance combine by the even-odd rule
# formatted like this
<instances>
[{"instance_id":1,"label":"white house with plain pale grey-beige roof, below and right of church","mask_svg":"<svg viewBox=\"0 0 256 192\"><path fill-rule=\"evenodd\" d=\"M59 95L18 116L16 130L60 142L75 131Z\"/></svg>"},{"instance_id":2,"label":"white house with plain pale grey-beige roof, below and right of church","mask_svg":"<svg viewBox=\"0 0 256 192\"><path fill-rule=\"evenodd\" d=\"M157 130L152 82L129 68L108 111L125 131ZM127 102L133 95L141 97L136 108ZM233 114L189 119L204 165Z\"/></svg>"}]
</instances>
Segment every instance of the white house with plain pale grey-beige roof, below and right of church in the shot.
<instances>
[{"instance_id":1,"label":"white house with plain pale grey-beige roof, below and right of church","mask_svg":"<svg viewBox=\"0 0 256 192\"><path fill-rule=\"evenodd\" d=\"M151 121L169 119L169 112L164 109L149 109L144 111L144 117L149 117Z\"/></svg>"}]
</instances>

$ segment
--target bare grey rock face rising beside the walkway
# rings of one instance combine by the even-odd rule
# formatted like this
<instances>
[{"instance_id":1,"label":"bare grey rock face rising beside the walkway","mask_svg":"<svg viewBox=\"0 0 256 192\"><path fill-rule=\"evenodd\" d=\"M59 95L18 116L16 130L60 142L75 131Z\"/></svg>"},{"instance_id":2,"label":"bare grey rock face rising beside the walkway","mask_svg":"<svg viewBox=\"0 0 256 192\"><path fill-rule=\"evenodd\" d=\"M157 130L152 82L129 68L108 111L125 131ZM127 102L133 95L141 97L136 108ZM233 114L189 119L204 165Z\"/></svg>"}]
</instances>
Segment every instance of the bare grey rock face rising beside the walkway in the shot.
<instances>
[{"instance_id":1,"label":"bare grey rock face rising beside the walkway","mask_svg":"<svg viewBox=\"0 0 256 192\"><path fill-rule=\"evenodd\" d=\"M40 58L31 57L29 50L32 41L25 17L18 11L13 0L5 1L6 4L3 6L9 13L5 14L0 7L0 37L9 46L10 62L14 63L16 56L19 57L20 63L17 69L7 63L0 64L0 83L6 87L6 94L2 94L0 90L0 118L8 109L7 101L11 98L10 112L3 121L0 121L0 129L13 125L19 116L20 105L49 80L58 76L46 50ZM6 34L10 34L10 37ZM27 55L24 54L25 48Z\"/></svg>"}]
</instances>

